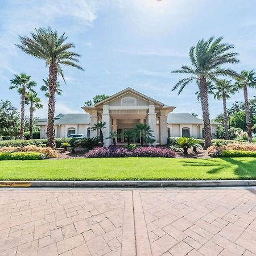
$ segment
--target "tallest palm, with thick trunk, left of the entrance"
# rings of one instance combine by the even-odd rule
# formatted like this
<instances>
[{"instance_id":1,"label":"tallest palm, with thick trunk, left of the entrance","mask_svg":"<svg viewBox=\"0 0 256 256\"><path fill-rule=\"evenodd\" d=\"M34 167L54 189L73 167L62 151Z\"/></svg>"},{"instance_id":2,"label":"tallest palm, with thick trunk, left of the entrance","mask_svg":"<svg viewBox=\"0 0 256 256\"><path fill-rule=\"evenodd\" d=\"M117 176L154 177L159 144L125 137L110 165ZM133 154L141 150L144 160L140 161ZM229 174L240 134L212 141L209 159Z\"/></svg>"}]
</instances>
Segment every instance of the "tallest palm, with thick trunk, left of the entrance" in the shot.
<instances>
[{"instance_id":1,"label":"tallest palm, with thick trunk, left of the entrance","mask_svg":"<svg viewBox=\"0 0 256 256\"><path fill-rule=\"evenodd\" d=\"M84 70L77 64L79 63L77 58L80 55L70 51L71 48L75 48L74 44L64 43L67 40L65 33L58 35L57 31L53 31L50 27L38 28L35 33L31 33L31 38L28 36L19 36L19 39L21 44L17 45L18 48L29 55L46 61L46 65L49 67L47 144L55 148L54 115L57 75L60 75L64 80L63 65Z\"/></svg>"}]
</instances>

